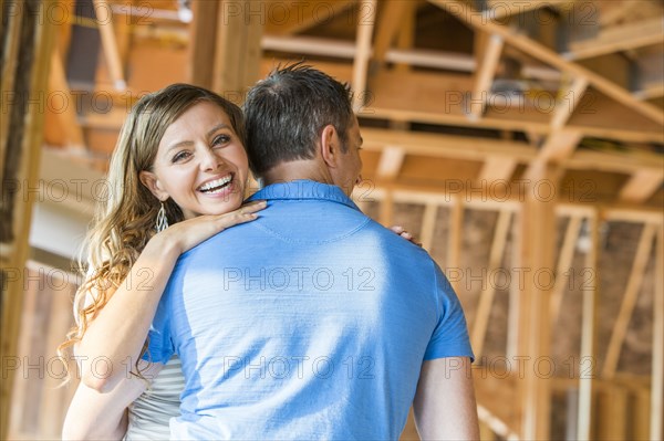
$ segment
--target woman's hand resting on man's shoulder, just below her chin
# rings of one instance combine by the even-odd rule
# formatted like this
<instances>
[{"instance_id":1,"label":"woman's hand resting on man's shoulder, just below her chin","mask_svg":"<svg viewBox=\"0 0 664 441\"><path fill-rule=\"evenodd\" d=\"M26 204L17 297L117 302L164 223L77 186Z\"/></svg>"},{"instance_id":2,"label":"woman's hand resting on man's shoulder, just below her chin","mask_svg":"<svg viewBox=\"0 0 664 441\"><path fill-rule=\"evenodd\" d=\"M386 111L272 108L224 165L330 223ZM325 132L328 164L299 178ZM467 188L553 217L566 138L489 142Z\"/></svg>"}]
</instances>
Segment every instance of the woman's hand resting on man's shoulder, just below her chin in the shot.
<instances>
[{"instance_id":1,"label":"woman's hand resting on man's shoulder, just below her chin","mask_svg":"<svg viewBox=\"0 0 664 441\"><path fill-rule=\"evenodd\" d=\"M149 243L156 242L162 249L173 250L179 255L227 228L258 219L256 213L267 206L266 201L253 201L228 213L188 219L157 233Z\"/></svg>"}]
</instances>

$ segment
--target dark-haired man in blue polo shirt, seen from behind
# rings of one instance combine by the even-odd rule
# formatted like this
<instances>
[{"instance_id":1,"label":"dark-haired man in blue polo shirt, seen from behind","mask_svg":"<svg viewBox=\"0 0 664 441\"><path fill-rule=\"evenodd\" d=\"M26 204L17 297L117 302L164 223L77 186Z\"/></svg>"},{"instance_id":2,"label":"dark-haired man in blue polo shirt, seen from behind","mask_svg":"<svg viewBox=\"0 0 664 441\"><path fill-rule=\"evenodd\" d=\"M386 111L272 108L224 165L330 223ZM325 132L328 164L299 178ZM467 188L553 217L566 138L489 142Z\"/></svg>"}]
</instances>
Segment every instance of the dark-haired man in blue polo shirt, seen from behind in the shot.
<instances>
[{"instance_id":1,"label":"dark-haired man in blue polo shirt, seen from behind","mask_svg":"<svg viewBox=\"0 0 664 441\"><path fill-rule=\"evenodd\" d=\"M183 254L149 334L157 366L183 363L172 438L398 439L414 405L423 439L478 439L454 291L349 198L362 168L349 90L297 64L245 112L268 209Z\"/></svg>"}]
</instances>

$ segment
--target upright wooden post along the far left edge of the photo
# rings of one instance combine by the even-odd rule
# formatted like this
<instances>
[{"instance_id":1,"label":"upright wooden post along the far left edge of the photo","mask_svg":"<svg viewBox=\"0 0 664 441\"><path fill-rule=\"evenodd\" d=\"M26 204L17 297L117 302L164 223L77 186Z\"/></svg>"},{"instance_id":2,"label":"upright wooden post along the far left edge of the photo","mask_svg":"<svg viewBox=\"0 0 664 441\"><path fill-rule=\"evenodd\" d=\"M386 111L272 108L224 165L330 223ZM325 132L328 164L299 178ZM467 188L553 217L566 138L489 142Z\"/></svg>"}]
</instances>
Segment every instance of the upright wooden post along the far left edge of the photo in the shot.
<instances>
[{"instance_id":1,"label":"upright wooden post along the far left edge of the photo","mask_svg":"<svg viewBox=\"0 0 664 441\"><path fill-rule=\"evenodd\" d=\"M20 38L19 43L21 52L31 52L32 56L23 59L29 60L27 63L13 61L10 64L14 65L18 72L15 75L22 75L21 78L15 78L13 88L18 96L23 95L27 103L43 102L43 94L46 91L46 82L49 77L49 67L51 65L51 53L53 52L53 41L55 35L55 25L53 20L48 17L49 8L54 4L53 0L25 1L22 8L27 12L20 17L12 17L10 20L20 20L21 24L11 24L11 28L18 25L21 31L15 34L10 34L11 38ZM10 42L12 43L12 42ZM13 44L10 44L10 46ZM18 56L18 54L15 54ZM3 78L4 81L4 78ZM3 83L4 86L4 83ZM4 91L2 91L4 92ZM7 146L7 154L14 148L14 158L18 161L19 172L15 176L20 181L32 188L37 187L39 178L39 162L41 156L44 112L40 112L39 105L11 106L10 113L24 111L20 115L23 120L22 132L14 139L19 141L15 145ZM12 138L12 130L15 127L9 126L9 138ZM10 177L2 176L3 179ZM17 195L11 195L15 202L13 217L11 219L11 228L9 237L3 237L9 243L9 258L3 260L2 267L2 334L0 346L0 358L10 360L17 357L18 336L20 329L20 317L23 306L23 277L22 275L25 261L28 260L28 235L30 233L30 222L32 218L32 203L35 195L30 192L27 198L19 198ZM7 262L7 266L6 265ZM15 272L10 277L8 271ZM6 279L7 277L7 279ZM7 439L9 430L9 418L11 411L11 393L14 384L15 370L8 370L6 378L2 378L0 385L0 439Z\"/></svg>"}]
</instances>

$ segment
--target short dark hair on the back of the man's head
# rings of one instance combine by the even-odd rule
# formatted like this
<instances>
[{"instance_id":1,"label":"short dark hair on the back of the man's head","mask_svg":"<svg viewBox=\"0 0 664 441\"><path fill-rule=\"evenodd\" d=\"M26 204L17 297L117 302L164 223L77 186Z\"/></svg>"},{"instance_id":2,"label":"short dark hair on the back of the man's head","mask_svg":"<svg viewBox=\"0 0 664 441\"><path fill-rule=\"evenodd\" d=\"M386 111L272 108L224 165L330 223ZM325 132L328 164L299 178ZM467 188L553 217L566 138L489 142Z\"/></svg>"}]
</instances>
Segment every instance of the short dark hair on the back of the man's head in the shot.
<instances>
[{"instance_id":1,"label":"short dark hair on the back of the man's head","mask_svg":"<svg viewBox=\"0 0 664 441\"><path fill-rule=\"evenodd\" d=\"M272 71L245 102L246 147L253 174L261 177L281 162L313 159L326 125L334 126L346 151L351 97L346 84L301 62Z\"/></svg>"}]
</instances>

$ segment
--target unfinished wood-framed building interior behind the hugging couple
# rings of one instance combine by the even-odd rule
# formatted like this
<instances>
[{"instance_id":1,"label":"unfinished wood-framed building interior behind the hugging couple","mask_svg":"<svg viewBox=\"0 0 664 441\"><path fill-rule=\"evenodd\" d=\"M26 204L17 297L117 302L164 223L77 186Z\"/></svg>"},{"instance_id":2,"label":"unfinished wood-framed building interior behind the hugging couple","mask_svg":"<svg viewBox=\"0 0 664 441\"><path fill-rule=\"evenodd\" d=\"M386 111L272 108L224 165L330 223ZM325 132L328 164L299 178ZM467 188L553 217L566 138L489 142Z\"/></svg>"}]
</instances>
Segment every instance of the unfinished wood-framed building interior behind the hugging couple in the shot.
<instances>
[{"instance_id":1,"label":"unfinished wood-framed building interior behind the hugging couple","mask_svg":"<svg viewBox=\"0 0 664 441\"><path fill-rule=\"evenodd\" d=\"M142 94L241 104L305 60L355 95L357 204L466 309L481 437L664 439L664 3L2 2L1 439L53 439L72 265ZM412 420L403 439L417 439Z\"/></svg>"}]
</instances>

